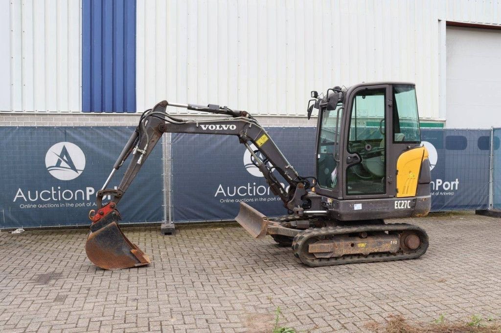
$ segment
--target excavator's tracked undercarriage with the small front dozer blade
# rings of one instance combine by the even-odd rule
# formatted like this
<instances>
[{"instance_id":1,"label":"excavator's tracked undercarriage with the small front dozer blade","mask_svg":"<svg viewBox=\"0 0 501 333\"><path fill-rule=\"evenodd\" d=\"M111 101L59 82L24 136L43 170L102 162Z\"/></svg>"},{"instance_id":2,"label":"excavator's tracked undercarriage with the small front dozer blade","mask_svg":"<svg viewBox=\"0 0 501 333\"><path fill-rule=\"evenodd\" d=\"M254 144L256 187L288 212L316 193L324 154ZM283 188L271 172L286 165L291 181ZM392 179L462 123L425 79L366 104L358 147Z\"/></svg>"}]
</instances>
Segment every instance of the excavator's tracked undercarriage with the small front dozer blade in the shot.
<instances>
[{"instance_id":1,"label":"excavator's tracked undercarriage with the small front dozer blade","mask_svg":"<svg viewBox=\"0 0 501 333\"><path fill-rule=\"evenodd\" d=\"M269 234L279 244L292 246L294 255L312 267L413 259L428 248L426 232L407 223L298 215L269 220L245 204L236 220L257 238Z\"/></svg>"}]
</instances>

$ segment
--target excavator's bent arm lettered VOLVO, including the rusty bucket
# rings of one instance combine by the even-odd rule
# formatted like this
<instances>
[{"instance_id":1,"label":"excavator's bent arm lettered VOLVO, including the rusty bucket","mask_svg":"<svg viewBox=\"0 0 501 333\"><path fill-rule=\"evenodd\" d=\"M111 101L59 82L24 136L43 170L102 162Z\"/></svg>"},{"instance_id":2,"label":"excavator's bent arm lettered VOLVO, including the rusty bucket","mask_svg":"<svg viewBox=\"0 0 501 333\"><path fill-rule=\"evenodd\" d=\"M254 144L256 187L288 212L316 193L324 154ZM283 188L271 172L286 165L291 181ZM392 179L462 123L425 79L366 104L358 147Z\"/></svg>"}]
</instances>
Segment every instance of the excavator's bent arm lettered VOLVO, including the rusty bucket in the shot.
<instances>
[{"instance_id":1,"label":"excavator's bent arm lettered VOLVO, including the rusty bucket","mask_svg":"<svg viewBox=\"0 0 501 333\"><path fill-rule=\"evenodd\" d=\"M167 106L225 114L229 117L210 120L180 119L169 115L166 112ZM92 224L86 243L87 256L97 266L105 269L120 269L150 262L149 257L130 242L118 226L118 220L121 217L116 206L160 137L166 132L237 136L239 142L252 154L253 163L263 172L272 192L280 196L288 211L297 214L303 213L304 206L308 203L307 200L304 200L304 196L313 186L313 181L309 180L313 177L302 177L298 174L273 139L253 116L246 111L235 111L226 106L178 104L168 103L164 100L141 115L139 125L135 128L118 156L105 184L97 192L97 209L89 212ZM250 146L251 143L256 146L257 150ZM258 152L261 153L262 158L260 158ZM106 188L116 170L131 154L132 158L118 187L116 189ZM288 182L288 190L277 179L275 171ZM111 195L111 200L103 205L102 200L107 195ZM246 205L243 207L243 211L242 208L240 209L237 220L238 218L252 219L256 218L256 216L262 219L262 216L254 211L252 207ZM252 225L253 223L248 224ZM255 234L255 236L262 233L259 227L258 230L250 230L249 228L247 230Z\"/></svg>"}]
</instances>

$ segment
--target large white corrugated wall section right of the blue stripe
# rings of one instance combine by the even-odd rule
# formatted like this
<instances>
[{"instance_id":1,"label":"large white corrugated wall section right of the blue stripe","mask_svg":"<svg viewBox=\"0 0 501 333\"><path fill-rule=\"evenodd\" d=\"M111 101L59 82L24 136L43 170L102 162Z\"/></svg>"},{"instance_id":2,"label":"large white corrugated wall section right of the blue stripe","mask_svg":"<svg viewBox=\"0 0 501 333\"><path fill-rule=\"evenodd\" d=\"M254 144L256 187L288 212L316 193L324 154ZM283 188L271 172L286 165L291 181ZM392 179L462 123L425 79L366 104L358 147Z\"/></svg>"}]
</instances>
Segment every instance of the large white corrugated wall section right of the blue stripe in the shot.
<instances>
[{"instance_id":1,"label":"large white corrugated wall section right of the blue stripe","mask_svg":"<svg viewBox=\"0 0 501 333\"><path fill-rule=\"evenodd\" d=\"M501 5L466 0L139 1L137 108L166 98L227 104L253 114L303 115L312 89L404 80L417 84L421 116L440 119L445 40L440 39L439 19L500 24Z\"/></svg>"}]
</instances>

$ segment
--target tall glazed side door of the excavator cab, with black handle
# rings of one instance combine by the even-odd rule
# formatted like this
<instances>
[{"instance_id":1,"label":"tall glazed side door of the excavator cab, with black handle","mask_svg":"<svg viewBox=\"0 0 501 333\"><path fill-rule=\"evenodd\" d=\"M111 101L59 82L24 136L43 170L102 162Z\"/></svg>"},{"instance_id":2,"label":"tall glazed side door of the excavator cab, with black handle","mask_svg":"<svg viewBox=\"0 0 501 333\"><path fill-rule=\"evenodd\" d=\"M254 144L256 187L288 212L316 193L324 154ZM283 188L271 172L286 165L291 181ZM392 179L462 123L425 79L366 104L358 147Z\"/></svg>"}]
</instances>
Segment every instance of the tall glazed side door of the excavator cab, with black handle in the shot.
<instances>
[{"instance_id":1,"label":"tall glazed side door of the excavator cab, with black handle","mask_svg":"<svg viewBox=\"0 0 501 333\"><path fill-rule=\"evenodd\" d=\"M347 97L343 198L393 197L391 85L358 86Z\"/></svg>"}]
</instances>

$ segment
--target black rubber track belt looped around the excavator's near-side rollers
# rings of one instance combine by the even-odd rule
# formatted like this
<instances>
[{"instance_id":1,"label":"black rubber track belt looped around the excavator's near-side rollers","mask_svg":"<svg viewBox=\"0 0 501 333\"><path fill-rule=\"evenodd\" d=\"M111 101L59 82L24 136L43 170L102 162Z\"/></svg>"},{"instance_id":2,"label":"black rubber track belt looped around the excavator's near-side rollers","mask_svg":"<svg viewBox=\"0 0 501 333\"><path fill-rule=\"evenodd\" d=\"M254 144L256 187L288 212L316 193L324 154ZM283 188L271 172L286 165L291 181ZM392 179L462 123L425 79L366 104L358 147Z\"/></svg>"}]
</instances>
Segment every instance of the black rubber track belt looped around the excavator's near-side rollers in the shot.
<instances>
[{"instance_id":1,"label":"black rubber track belt looped around the excavator's near-side rollers","mask_svg":"<svg viewBox=\"0 0 501 333\"><path fill-rule=\"evenodd\" d=\"M396 253L374 253L369 255L363 254L349 254L343 255L342 257L332 257L332 258L309 258L303 255L307 248L303 248L305 242L317 236L328 237L334 235L340 235L352 232L374 232L374 231L407 231L414 230L417 231L419 237L421 238L421 245L411 252L403 252L401 249ZM428 235L424 229L419 226L407 224L407 223L390 223L390 224L380 224L380 225L357 225L357 226L328 226L322 228L309 228L305 231L297 234L294 237L292 243L292 248L294 250L294 255L300 258L301 261L311 267L320 266L330 266L330 265L342 265L348 263L359 263L359 262L380 262L380 261L393 261L393 260L406 260L418 258L426 252L428 248Z\"/></svg>"}]
</instances>

